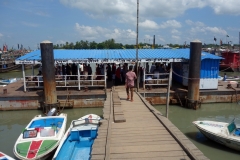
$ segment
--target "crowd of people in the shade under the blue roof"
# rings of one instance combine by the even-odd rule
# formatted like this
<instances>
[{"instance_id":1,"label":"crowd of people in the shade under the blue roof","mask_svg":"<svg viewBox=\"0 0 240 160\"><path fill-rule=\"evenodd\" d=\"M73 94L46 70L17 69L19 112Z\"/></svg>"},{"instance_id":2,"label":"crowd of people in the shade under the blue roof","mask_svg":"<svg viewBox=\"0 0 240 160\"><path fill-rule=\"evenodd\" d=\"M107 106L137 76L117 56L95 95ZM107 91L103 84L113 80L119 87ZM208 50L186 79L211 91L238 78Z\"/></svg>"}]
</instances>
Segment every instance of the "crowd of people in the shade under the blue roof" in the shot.
<instances>
[{"instance_id":1,"label":"crowd of people in the shade under the blue roof","mask_svg":"<svg viewBox=\"0 0 240 160\"><path fill-rule=\"evenodd\" d=\"M106 75L107 81L113 82L114 85L123 85L125 84L125 77L130 65L133 66L133 71L136 73L137 77L139 78L140 82L143 82L143 71L145 69L145 73L147 74L145 79L161 79L166 78L166 75L161 75L161 73L168 73L170 66L166 65L166 63L152 63L149 66L149 63L146 63L145 67L141 64L139 65L138 73L137 74L137 67L136 64L116 64L116 63L108 63L106 64ZM81 78L91 80L101 80L104 79L104 64L96 64L96 72L93 74L92 67L90 64L86 63L72 63L72 64L60 64L57 63L55 65L55 75L62 76L68 75L66 77L67 80L77 80L78 79L78 70L80 73ZM39 68L38 76L42 75L42 67ZM72 76L76 75L76 76ZM63 77L63 76L62 76Z\"/></svg>"}]
</instances>

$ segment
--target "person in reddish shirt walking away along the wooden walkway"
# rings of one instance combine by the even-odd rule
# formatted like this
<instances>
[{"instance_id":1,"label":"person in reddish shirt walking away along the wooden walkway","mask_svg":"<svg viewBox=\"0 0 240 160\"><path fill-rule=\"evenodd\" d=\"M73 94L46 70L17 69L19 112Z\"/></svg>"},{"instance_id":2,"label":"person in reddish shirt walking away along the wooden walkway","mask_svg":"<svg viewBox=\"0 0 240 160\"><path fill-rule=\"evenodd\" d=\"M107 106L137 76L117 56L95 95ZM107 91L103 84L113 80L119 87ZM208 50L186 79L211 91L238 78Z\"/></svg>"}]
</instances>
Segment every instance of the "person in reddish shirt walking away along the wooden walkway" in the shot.
<instances>
[{"instance_id":1,"label":"person in reddish shirt walking away along the wooden walkway","mask_svg":"<svg viewBox=\"0 0 240 160\"><path fill-rule=\"evenodd\" d=\"M129 90L131 92L131 102L133 101L133 88L134 88L134 80L137 79L135 72L132 71L133 66L129 66L129 70L126 73L125 78L125 87L127 92L127 100L130 100Z\"/></svg>"}]
</instances>

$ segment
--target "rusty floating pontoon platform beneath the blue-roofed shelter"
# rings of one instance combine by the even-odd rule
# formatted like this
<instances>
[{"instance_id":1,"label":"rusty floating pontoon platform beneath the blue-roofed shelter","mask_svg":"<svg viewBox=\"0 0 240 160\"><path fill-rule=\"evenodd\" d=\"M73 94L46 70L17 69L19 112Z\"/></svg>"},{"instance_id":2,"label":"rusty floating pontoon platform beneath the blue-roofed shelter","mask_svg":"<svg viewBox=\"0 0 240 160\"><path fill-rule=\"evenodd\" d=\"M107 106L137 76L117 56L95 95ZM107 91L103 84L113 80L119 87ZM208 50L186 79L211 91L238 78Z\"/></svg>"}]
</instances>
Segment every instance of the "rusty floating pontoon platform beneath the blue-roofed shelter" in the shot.
<instances>
[{"instance_id":1,"label":"rusty floating pontoon platform beneath the blue-roofed shelter","mask_svg":"<svg viewBox=\"0 0 240 160\"><path fill-rule=\"evenodd\" d=\"M108 84L108 86L111 86ZM118 86L124 88L124 86ZM216 90L200 90L201 103L233 103L240 101L239 85L234 81L219 81ZM24 110L41 109L44 101L43 89L34 89L24 92L23 81L17 81L0 88L0 110ZM89 88L80 90L77 88L57 89L57 99L60 107L103 107L106 100L104 88ZM184 106L187 97L187 88L173 83L170 91L170 104ZM140 85L139 93L152 105L166 104L167 86L152 87L151 90L143 90Z\"/></svg>"}]
</instances>

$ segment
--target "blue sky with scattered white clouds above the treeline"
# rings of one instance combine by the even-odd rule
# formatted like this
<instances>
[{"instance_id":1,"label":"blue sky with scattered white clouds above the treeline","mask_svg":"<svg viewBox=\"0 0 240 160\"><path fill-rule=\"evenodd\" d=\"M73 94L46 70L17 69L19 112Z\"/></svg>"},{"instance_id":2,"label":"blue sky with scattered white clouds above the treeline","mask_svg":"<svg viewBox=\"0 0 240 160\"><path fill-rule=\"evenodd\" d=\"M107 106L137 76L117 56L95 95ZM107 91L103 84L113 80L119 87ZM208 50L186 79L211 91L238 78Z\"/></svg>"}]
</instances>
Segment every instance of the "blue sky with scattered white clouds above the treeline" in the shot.
<instances>
[{"instance_id":1,"label":"blue sky with scattered white clouds above the treeline","mask_svg":"<svg viewBox=\"0 0 240 160\"><path fill-rule=\"evenodd\" d=\"M0 48L55 44L239 44L240 0L0 0ZM227 35L229 37L227 37Z\"/></svg>"}]
</instances>

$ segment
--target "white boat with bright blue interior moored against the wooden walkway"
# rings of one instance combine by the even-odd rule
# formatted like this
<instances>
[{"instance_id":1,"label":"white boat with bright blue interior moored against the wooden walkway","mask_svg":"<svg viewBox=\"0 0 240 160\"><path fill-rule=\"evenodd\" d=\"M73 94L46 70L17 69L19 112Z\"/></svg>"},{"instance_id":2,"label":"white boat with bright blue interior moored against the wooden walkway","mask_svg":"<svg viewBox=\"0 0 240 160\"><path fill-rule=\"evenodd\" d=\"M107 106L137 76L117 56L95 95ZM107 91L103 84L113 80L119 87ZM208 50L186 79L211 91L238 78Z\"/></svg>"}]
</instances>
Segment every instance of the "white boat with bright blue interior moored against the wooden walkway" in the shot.
<instances>
[{"instance_id":1,"label":"white boat with bright blue interior moored against the wooden walkway","mask_svg":"<svg viewBox=\"0 0 240 160\"><path fill-rule=\"evenodd\" d=\"M91 148L97 136L100 117L88 114L73 120L54 156L54 160L71 160L91 158Z\"/></svg>"}]
</instances>

